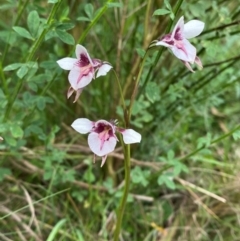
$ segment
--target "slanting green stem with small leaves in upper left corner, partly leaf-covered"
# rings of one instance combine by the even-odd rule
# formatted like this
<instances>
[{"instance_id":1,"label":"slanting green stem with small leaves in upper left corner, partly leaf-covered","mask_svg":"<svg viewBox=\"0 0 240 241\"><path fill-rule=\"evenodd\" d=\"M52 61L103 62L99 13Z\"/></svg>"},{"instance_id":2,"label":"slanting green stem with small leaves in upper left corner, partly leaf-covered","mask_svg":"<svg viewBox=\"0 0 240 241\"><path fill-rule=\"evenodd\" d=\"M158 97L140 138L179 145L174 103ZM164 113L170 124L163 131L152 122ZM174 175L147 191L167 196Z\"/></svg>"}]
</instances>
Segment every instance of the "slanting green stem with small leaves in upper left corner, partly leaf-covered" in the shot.
<instances>
[{"instance_id":1,"label":"slanting green stem with small leaves in upper left corner, partly leaf-covered","mask_svg":"<svg viewBox=\"0 0 240 241\"><path fill-rule=\"evenodd\" d=\"M42 31L41 35L36 39L33 47L31 48L31 51L29 52L29 54L28 54L28 56L27 56L27 58L26 58L26 63L32 60L35 52L37 51L37 49L39 48L40 44L42 43L42 41L43 41L46 33L48 32L48 30L49 30L49 28L50 28L51 21L53 20L53 18L54 18L54 16L55 16L55 14L56 14L56 12L57 12L57 10L58 10L58 8L59 8L59 6L60 6L61 3L62 3L62 0L59 0L58 3L56 3L56 4L53 6L53 8L52 8L52 10L51 10L51 13L50 13L50 15L49 15L49 17L48 17L48 20L47 20L47 26L48 26L48 27L45 28L45 29ZM23 85L23 78L19 79L19 81L18 81L18 83L17 83L17 85L16 85L16 87L15 87L15 89L14 89L14 93L13 93L13 95L12 95L12 98L10 99L10 101L9 101L8 104L7 104L6 112L5 112L5 115L4 115L4 120L5 120L5 121L6 121L6 120L8 119L8 117L9 117L9 114L10 114L10 112L11 112L11 110L12 110L13 104L14 104L16 98L17 98L18 93L20 92L20 90L21 90L21 88L22 88L22 85Z\"/></svg>"}]
</instances>

